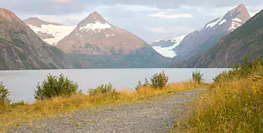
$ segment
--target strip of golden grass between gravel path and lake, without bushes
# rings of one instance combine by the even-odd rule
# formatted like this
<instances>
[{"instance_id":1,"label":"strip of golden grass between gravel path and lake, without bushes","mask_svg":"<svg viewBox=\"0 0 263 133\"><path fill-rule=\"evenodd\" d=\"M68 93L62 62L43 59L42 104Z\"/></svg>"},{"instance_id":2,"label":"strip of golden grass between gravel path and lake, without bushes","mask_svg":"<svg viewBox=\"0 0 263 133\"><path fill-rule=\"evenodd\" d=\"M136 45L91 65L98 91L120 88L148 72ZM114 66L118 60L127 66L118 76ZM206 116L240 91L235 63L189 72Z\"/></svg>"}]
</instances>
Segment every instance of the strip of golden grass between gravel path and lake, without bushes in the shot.
<instances>
[{"instance_id":1,"label":"strip of golden grass between gravel path and lake, without bushes","mask_svg":"<svg viewBox=\"0 0 263 133\"><path fill-rule=\"evenodd\" d=\"M150 87L142 88L137 91L121 90L119 97L109 98L107 94L95 96L90 95L74 95L69 98L55 97L50 100L36 101L34 104L26 104L24 106L16 106L10 111L0 113L0 132L14 127L16 123L28 122L32 125L35 119L45 116L53 116L59 113L76 111L78 109L86 109L99 107L104 105L128 104L132 102L141 102L149 97L159 94L167 94L170 92L180 92L185 90L194 90L201 86L197 86L191 82L170 83L162 90L156 90Z\"/></svg>"}]
</instances>

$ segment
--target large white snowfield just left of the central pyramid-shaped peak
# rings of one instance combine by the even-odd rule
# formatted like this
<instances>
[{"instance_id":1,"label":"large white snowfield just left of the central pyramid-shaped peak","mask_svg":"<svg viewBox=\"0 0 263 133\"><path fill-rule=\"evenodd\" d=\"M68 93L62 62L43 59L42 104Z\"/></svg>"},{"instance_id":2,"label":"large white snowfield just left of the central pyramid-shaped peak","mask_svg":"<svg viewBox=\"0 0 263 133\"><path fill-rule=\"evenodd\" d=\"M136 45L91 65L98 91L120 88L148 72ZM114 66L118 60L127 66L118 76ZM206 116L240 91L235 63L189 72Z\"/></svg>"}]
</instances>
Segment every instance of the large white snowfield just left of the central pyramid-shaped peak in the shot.
<instances>
[{"instance_id":1,"label":"large white snowfield just left of the central pyramid-shaped peak","mask_svg":"<svg viewBox=\"0 0 263 133\"><path fill-rule=\"evenodd\" d=\"M27 24L28 25L28 24ZM56 45L65 36L69 35L75 28L74 26L64 26L64 25L41 25L41 27L36 27L34 25L28 25L36 34L44 33L54 38L47 38L43 41L49 43L50 45Z\"/></svg>"}]
</instances>

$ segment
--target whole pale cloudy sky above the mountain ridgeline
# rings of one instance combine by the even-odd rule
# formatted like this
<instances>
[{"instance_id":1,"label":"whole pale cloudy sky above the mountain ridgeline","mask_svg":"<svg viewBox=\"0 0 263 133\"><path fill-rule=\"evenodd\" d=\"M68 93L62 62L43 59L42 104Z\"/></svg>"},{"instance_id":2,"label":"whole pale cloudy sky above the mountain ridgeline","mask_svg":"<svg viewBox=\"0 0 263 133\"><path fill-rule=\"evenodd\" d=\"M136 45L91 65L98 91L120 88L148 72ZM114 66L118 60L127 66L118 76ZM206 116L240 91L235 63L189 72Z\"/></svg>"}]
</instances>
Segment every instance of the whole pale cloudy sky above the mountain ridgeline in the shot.
<instances>
[{"instance_id":1,"label":"whole pale cloudy sky above the mountain ridgeline","mask_svg":"<svg viewBox=\"0 0 263 133\"><path fill-rule=\"evenodd\" d=\"M112 25L147 42L189 34L243 3L249 12L263 9L262 0L0 0L0 8L25 20L37 17L77 25L97 11Z\"/></svg>"}]
</instances>

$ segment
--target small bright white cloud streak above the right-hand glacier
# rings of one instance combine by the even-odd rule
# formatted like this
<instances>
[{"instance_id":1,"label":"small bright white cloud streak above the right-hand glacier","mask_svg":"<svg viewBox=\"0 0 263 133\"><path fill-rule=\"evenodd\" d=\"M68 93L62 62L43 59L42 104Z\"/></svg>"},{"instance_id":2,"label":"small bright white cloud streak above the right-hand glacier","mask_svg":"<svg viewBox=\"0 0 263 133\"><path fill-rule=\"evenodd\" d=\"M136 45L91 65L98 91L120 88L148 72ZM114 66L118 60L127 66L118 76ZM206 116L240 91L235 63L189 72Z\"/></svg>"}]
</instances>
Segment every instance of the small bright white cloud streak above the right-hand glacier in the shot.
<instances>
[{"instance_id":1,"label":"small bright white cloud streak above the right-hand glacier","mask_svg":"<svg viewBox=\"0 0 263 133\"><path fill-rule=\"evenodd\" d=\"M159 12L156 14L149 14L150 17L158 17L158 18L194 18L193 15L189 13L180 13L180 14L167 14L168 12Z\"/></svg>"}]
</instances>

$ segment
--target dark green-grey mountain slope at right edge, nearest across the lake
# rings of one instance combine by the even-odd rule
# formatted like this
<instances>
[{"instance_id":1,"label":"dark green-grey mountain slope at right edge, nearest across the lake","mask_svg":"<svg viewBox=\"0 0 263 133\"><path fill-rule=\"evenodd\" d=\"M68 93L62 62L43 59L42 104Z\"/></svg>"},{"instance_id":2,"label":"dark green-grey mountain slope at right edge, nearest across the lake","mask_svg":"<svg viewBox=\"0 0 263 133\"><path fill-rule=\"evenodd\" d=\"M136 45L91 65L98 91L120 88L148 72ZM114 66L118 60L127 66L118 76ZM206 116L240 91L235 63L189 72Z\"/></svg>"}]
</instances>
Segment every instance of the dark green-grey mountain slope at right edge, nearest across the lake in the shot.
<instances>
[{"instance_id":1,"label":"dark green-grey mountain slope at right edge, nearest across the lake","mask_svg":"<svg viewBox=\"0 0 263 133\"><path fill-rule=\"evenodd\" d=\"M171 67L230 67L243 62L244 55L252 60L263 57L263 10L244 25L238 27L202 54L184 62L177 62Z\"/></svg>"}]
</instances>

